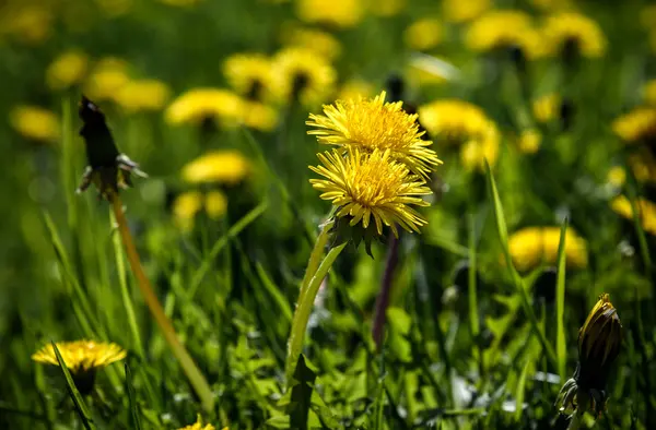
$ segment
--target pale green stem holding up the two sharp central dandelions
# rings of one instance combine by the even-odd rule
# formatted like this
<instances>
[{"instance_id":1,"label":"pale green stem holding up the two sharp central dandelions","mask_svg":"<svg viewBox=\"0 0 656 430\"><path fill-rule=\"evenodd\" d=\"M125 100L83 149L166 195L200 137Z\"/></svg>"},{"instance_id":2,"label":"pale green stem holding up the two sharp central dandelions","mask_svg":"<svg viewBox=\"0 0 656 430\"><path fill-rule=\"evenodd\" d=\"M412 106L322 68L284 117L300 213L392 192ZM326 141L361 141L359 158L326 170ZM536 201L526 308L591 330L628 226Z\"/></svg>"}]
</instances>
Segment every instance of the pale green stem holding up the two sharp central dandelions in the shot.
<instances>
[{"instance_id":1,"label":"pale green stem holding up the two sharp central dandelions","mask_svg":"<svg viewBox=\"0 0 656 430\"><path fill-rule=\"evenodd\" d=\"M326 230L328 227L324 227ZM321 238L321 240L324 240ZM327 239L326 239L327 240ZM319 239L317 239L317 243ZM294 311L294 318L292 319L292 330L290 333L290 338L288 342L288 358L285 363L285 381L288 384L291 382L292 375L294 374L294 368L296 367L296 361L298 361L298 356L301 355L301 350L303 349L303 338L305 337L305 330L307 329L307 321L309 320L309 314L312 313L312 309L314 307L315 298L317 297L317 292L319 291L319 287L321 282L328 274L328 271L335 263L335 260L340 254L340 252L344 249L348 242L343 242L333 247L328 251L326 258L321 261L316 270L316 273L312 276L311 280L307 283L306 288L301 286L301 292L298 295L298 303L296 306L296 310ZM316 250L317 247L315 247ZM321 248L323 249L323 248ZM317 255L321 253L317 251L315 253L313 251L313 255L311 256L311 261L307 264L309 272L318 262ZM314 259L313 259L314 256ZM306 273L307 275L307 273ZM307 275L309 276L309 275Z\"/></svg>"}]
</instances>

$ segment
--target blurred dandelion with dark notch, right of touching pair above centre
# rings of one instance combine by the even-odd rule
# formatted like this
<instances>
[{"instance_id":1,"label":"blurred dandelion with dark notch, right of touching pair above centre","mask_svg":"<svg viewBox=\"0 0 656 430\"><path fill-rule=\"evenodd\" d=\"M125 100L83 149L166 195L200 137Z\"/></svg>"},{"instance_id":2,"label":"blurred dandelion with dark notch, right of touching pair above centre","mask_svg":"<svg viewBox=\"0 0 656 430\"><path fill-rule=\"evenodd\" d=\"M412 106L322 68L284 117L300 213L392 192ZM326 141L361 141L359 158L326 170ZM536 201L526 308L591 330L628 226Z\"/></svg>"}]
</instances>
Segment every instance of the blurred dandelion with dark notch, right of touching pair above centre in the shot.
<instances>
[{"instance_id":1,"label":"blurred dandelion with dark notch, right of touching pair above centre","mask_svg":"<svg viewBox=\"0 0 656 430\"><path fill-rule=\"evenodd\" d=\"M285 48L273 58L273 92L281 103L298 99L315 106L332 94L337 73L328 60L303 48Z\"/></svg>"}]
</instances>

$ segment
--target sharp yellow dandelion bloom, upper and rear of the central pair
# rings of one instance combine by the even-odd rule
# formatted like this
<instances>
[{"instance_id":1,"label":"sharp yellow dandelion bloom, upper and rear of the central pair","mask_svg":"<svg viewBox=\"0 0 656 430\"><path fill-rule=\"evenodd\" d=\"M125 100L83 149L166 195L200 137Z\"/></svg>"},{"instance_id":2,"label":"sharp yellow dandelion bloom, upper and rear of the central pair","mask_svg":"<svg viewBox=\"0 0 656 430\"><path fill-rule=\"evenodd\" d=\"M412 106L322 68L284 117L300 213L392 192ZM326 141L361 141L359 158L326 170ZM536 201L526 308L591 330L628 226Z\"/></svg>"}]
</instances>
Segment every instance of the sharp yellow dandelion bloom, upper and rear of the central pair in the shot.
<instances>
[{"instance_id":1,"label":"sharp yellow dandelion bloom, upper and rear of the central pair","mask_svg":"<svg viewBox=\"0 0 656 430\"><path fill-rule=\"evenodd\" d=\"M319 143L365 152L389 150L390 156L417 175L427 176L442 162L422 140L417 115L408 115L402 101L385 103L385 92L373 99L337 100L324 106L325 115L309 115L307 133Z\"/></svg>"}]
</instances>

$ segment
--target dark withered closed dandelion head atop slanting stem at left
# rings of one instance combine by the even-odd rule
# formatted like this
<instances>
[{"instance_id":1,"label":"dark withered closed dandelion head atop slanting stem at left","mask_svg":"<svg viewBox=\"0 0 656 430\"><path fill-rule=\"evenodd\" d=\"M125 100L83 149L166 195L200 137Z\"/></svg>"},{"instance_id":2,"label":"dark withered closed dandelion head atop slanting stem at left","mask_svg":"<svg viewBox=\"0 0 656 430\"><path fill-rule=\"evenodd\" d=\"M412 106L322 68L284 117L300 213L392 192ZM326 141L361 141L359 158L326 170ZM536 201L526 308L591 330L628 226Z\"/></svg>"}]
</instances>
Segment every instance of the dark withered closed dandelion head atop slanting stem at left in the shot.
<instances>
[{"instance_id":1,"label":"dark withered closed dandelion head atop slanting stem at left","mask_svg":"<svg viewBox=\"0 0 656 430\"><path fill-rule=\"evenodd\" d=\"M80 101L79 115L84 123L80 135L86 146L87 166L78 192L86 190L93 182L98 189L99 196L110 200L119 189L132 184L131 172L142 178L148 177L139 170L137 163L118 152L112 131L105 122L105 115L85 96L82 96Z\"/></svg>"}]
</instances>

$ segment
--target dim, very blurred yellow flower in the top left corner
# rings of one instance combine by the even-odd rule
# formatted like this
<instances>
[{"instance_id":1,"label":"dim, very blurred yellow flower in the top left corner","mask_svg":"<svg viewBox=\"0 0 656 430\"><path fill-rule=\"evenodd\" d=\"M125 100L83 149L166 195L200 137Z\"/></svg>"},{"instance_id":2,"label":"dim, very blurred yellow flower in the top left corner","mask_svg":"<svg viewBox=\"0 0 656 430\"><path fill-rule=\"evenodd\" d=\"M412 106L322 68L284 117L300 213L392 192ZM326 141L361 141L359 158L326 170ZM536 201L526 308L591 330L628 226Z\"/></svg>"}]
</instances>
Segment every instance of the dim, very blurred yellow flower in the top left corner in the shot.
<instances>
[{"instance_id":1,"label":"dim, very blurred yellow flower in the top left corner","mask_svg":"<svg viewBox=\"0 0 656 430\"><path fill-rule=\"evenodd\" d=\"M15 1L2 5L0 34L10 34L25 44L40 44L51 33L55 15L49 4Z\"/></svg>"}]
</instances>

